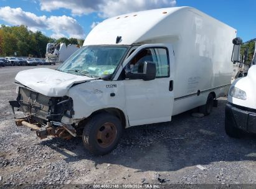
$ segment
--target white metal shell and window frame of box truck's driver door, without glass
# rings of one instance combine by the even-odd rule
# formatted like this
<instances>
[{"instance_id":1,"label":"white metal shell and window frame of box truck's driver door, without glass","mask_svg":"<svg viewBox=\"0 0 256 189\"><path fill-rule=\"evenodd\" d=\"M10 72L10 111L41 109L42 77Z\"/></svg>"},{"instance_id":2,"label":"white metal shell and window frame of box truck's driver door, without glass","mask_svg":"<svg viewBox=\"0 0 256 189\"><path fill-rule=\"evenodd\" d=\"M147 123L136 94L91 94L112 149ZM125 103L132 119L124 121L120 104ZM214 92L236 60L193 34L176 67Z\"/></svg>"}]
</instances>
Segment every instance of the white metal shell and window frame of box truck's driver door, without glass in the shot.
<instances>
[{"instance_id":1,"label":"white metal shell and window frame of box truck's driver door, without glass","mask_svg":"<svg viewBox=\"0 0 256 189\"><path fill-rule=\"evenodd\" d=\"M173 68L173 48L171 45L147 44L138 47L123 63L123 68L143 48L167 47L169 65ZM168 78L156 78L151 81L124 80L126 113L130 126L171 121L174 93L169 91L169 82L173 80L173 71Z\"/></svg>"}]
</instances>

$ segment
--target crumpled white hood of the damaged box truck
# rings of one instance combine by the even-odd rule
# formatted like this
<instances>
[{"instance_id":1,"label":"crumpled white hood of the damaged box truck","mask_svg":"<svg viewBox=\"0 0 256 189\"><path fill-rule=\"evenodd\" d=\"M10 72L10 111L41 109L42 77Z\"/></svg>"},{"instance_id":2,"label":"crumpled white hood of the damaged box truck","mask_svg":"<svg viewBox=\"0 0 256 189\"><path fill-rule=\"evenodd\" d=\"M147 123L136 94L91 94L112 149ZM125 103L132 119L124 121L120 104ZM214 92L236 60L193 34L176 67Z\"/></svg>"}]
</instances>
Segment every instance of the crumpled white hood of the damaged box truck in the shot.
<instances>
[{"instance_id":1,"label":"crumpled white hood of the damaged box truck","mask_svg":"<svg viewBox=\"0 0 256 189\"><path fill-rule=\"evenodd\" d=\"M65 96L74 83L92 81L95 78L64 73L49 68L20 71L15 80L45 96Z\"/></svg>"}]
</instances>

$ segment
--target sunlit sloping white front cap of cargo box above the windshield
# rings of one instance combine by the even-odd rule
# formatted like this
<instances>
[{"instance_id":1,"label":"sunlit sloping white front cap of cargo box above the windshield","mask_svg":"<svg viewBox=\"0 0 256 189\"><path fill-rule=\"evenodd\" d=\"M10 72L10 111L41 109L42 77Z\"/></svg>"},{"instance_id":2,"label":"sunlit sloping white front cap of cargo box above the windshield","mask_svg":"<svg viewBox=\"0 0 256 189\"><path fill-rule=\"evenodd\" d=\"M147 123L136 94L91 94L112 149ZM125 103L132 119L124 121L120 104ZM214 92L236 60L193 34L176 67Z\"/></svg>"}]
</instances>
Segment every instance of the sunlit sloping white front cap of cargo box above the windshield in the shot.
<instances>
[{"instance_id":1,"label":"sunlit sloping white front cap of cargo box above the windshield","mask_svg":"<svg viewBox=\"0 0 256 189\"><path fill-rule=\"evenodd\" d=\"M156 24L173 12L184 7L171 7L166 9L154 9L150 11L133 12L121 16L112 17L98 24L87 35L83 45L116 44L116 37L121 36L120 45L131 45L138 42L144 34L150 31ZM163 12L168 12L163 14ZM162 31L154 34L161 35Z\"/></svg>"}]
</instances>

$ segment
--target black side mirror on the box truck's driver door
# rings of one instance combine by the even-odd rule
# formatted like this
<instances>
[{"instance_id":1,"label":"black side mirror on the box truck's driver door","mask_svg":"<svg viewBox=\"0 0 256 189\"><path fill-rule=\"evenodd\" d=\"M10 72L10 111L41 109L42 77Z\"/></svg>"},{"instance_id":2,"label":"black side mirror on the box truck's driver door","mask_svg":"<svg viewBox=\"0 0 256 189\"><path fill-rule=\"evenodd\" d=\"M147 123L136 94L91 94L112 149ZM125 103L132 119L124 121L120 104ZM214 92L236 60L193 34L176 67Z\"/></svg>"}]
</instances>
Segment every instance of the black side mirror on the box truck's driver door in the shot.
<instances>
[{"instance_id":1,"label":"black side mirror on the box truck's driver door","mask_svg":"<svg viewBox=\"0 0 256 189\"><path fill-rule=\"evenodd\" d=\"M154 80L156 78L156 64L154 62L140 63L138 65L138 73L128 72L126 73L126 78L130 80Z\"/></svg>"}]
</instances>

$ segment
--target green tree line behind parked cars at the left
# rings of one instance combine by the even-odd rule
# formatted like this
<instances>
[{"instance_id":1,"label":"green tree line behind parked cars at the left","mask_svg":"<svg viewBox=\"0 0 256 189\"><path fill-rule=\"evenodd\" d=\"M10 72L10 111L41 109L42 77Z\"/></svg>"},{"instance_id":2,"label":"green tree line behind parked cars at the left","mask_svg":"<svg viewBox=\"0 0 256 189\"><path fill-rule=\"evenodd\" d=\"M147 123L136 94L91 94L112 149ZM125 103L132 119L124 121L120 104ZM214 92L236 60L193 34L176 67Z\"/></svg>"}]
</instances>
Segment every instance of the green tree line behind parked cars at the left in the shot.
<instances>
[{"instance_id":1,"label":"green tree line behind parked cars at the left","mask_svg":"<svg viewBox=\"0 0 256 189\"><path fill-rule=\"evenodd\" d=\"M48 43L63 42L66 45L83 45L82 39L62 37L60 39L52 39L42 34L42 32L32 32L25 25L0 27L0 56L28 57L45 57L46 45Z\"/></svg>"}]
</instances>

